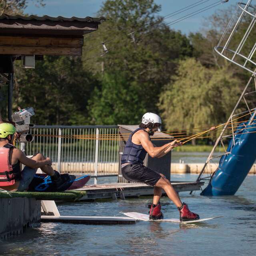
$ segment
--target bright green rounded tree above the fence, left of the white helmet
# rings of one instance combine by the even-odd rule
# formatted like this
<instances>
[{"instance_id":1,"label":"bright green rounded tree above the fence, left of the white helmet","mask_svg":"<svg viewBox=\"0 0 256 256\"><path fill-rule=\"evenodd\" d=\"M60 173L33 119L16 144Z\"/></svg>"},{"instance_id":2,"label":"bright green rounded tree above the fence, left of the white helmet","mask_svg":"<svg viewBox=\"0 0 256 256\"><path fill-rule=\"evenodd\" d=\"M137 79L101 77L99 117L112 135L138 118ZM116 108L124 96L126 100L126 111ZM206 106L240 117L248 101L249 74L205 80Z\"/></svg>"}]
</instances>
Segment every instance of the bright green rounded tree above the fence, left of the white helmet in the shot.
<instances>
[{"instance_id":1,"label":"bright green rounded tree above the fence, left of the white helmet","mask_svg":"<svg viewBox=\"0 0 256 256\"><path fill-rule=\"evenodd\" d=\"M136 82L127 83L120 73L104 73L102 87L94 89L88 112L92 124L136 124L146 111L140 96L134 93Z\"/></svg>"}]
</instances>

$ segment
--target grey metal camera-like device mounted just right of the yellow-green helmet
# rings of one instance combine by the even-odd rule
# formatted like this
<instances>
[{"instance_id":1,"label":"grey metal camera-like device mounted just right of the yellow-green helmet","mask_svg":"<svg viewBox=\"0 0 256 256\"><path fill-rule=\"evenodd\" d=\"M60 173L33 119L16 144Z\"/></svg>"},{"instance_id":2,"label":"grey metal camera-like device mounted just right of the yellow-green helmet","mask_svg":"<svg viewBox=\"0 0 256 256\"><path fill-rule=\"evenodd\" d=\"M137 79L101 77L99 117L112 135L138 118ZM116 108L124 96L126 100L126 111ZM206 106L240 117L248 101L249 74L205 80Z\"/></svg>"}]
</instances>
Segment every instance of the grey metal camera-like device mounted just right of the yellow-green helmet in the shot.
<instances>
[{"instance_id":1,"label":"grey metal camera-like device mounted just right of the yellow-green helmet","mask_svg":"<svg viewBox=\"0 0 256 256\"><path fill-rule=\"evenodd\" d=\"M32 107L23 108L12 114L12 120L15 122L16 132L20 134L18 142L32 142L34 136L30 134L30 127L34 127L34 124L30 124L30 117L34 116L35 110Z\"/></svg>"}]
</instances>

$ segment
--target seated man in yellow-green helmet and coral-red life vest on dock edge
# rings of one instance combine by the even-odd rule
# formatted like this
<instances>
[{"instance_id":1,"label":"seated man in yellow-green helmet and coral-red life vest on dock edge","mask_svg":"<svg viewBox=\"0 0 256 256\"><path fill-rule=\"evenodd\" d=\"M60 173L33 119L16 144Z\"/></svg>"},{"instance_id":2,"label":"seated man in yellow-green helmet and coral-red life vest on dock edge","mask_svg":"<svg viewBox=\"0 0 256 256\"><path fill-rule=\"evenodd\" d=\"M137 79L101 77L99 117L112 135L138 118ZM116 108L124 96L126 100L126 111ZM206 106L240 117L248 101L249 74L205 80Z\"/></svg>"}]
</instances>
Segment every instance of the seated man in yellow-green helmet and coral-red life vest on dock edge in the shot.
<instances>
[{"instance_id":1,"label":"seated man in yellow-green helmet and coral-red life vest on dock edge","mask_svg":"<svg viewBox=\"0 0 256 256\"><path fill-rule=\"evenodd\" d=\"M53 170L52 160L41 153L31 159L24 152L11 144L16 128L10 123L0 123L0 189L9 191L24 191L34 178L37 168L50 175L56 187L62 180L60 174ZM23 170L20 163L24 164Z\"/></svg>"}]
</instances>

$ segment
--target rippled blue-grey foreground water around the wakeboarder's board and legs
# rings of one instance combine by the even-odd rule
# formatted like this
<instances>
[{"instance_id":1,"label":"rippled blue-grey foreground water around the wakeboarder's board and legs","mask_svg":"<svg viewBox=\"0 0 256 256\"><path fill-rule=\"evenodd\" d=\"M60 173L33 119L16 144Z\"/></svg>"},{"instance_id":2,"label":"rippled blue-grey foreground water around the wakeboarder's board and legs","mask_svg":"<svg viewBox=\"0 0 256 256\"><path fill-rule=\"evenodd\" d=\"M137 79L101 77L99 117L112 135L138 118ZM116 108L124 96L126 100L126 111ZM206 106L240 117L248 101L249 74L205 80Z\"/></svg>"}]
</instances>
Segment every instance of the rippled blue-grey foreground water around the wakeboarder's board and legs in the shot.
<instances>
[{"instance_id":1,"label":"rippled blue-grey foreground water around the wakeboarder's board and legs","mask_svg":"<svg viewBox=\"0 0 256 256\"><path fill-rule=\"evenodd\" d=\"M173 175L172 180L195 180L196 175ZM111 178L114 181L115 178ZM100 182L111 181L102 179ZM131 225L43 223L18 238L0 242L0 255L254 255L256 249L256 176L248 176L236 196L204 197L180 193L201 218L225 216L194 225L137 222ZM162 198L165 218L178 211ZM58 204L62 215L147 213L151 198Z\"/></svg>"}]
</instances>

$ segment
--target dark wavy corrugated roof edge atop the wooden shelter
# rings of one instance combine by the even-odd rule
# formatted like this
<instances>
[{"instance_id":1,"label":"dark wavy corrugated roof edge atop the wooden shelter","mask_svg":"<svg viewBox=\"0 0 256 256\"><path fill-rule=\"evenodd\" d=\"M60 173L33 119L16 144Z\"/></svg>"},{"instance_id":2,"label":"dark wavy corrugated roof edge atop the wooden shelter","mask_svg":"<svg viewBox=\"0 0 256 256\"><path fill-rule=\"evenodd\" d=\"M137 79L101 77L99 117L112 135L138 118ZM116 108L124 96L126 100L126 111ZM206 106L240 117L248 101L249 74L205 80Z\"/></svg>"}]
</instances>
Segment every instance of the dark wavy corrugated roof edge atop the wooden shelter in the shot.
<instances>
[{"instance_id":1,"label":"dark wavy corrugated roof edge atop the wooden shelter","mask_svg":"<svg viewBox=\"0 0 256 256\"><path fill-rule=\"evenodd\" d=\"M99 18L93 18L93 17L85 17L85 18L78 18L78 17L72 17L72 18L65 18L62 16L58 17L50 17L48 15L44 15L42 17L35 16L35 15L30 15L30 16L21 16L21 15L8 15L8 14L2 14L0 15L0 20L39 20L39 21L45 21L45 20L50 20L50 21L79 21L79 22L99 22L102 23L103 21L106 20L104 17L99 17Z\"/></svg>"}]
</instances>

